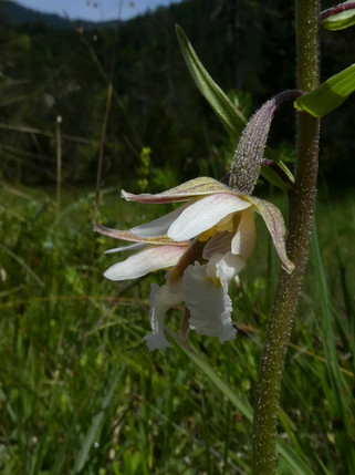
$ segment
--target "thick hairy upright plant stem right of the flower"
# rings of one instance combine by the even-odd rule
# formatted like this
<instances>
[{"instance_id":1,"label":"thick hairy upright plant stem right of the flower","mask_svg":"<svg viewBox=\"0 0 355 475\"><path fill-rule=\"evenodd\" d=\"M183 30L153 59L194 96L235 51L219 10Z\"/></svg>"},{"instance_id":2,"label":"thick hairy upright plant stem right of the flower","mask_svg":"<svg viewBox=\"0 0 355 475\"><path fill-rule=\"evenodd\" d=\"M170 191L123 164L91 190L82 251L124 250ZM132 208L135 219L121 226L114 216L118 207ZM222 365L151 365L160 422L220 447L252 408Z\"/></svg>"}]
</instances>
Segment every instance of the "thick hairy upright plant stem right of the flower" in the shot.
<instances>
[{"instance_id":1,"label":"thick hairy upright plant stem right of the flower","mask_svg":"<svg viewBox=\"0 0 355 475\"><path fill-rule=\"evenodd\" d=\"M296 0L297 87L311 91L319 82L319 0ZM288 254L295 270L282 271L271 311L253 419L253 475L276 473L276 424L284 359L290 340L311 240L315 208L319 121L297 116L297 166L290 193Z\"/></svg>"}]
</instances>

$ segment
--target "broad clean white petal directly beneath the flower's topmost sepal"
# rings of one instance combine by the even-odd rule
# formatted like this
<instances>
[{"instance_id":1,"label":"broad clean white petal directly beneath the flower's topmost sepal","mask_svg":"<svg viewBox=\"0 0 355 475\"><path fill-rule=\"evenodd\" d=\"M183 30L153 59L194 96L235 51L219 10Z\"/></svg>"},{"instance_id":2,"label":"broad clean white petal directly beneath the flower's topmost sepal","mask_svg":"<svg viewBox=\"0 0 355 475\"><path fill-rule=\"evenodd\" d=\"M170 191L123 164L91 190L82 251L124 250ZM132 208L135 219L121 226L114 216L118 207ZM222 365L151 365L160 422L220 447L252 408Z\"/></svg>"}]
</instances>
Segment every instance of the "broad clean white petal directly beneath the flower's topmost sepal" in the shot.
<instances>
[{"instance_id":1,"label":"broad clean white petal directly beneath the flower's topmost sepal","mask_svg":"<svg viewBox=\"0 0 355 475\"><path fill-rule=\"evenodd\" d=\"M168 229L175 241L191 239L210 229L231 213L249 208L251 203L233 194L218 193L188 206Z\"/></svg>"}]
</instances>

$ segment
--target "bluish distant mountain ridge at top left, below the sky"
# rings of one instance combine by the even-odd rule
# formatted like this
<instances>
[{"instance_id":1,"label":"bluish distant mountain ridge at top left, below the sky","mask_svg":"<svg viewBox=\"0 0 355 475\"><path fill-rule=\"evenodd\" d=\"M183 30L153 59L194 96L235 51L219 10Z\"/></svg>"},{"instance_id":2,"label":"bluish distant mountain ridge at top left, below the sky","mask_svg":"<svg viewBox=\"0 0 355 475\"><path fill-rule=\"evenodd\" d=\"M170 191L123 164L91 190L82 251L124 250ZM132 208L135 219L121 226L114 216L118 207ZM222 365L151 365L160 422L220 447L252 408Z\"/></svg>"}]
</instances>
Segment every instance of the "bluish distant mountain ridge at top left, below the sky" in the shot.
<instances>
[{"instance_id":1,"label":"bluish distant mountain ridge at top left, below the sky","mask_svg":"<svg viewBox=\"0 0 355 475\"><path fill-rule=\"evenodd\" d=\"M24 23L43 22L46 27L53 29L66 29L71 28L71 22L65 18L58 14L42 13L29 8L22 7L11 0L0 0L0 24L8 23L13 25L21 25ZM85 28L95 28L97 23L75 20L76 24ZM104 22L105 25L109 27L116 22Z\"/></svg>"}]
</instances>

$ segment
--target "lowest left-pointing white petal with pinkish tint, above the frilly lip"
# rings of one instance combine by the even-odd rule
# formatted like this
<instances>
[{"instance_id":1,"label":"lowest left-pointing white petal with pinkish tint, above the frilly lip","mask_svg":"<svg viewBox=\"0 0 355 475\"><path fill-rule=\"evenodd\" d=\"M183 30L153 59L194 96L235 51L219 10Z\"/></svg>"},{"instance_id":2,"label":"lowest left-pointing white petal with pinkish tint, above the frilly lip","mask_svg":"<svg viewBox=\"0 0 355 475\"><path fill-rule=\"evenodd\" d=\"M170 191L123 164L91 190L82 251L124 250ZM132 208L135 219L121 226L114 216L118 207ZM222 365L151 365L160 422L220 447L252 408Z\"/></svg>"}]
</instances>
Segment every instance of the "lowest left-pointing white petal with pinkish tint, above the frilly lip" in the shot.
<instances>
[{"instance_id":1,"label":"lowest left-pointing white petal with pinkish tint, above the frilly lip","mask_svg":"<svg viewBox=\"0 0 355 475\"><path fill-rule=\"evenodd\" d=\"M137 279L149 272L176 265L185 248L180 246L149 246L122 262L111 266L104 276L109 280Z\"/></svg>"}]
</instances>

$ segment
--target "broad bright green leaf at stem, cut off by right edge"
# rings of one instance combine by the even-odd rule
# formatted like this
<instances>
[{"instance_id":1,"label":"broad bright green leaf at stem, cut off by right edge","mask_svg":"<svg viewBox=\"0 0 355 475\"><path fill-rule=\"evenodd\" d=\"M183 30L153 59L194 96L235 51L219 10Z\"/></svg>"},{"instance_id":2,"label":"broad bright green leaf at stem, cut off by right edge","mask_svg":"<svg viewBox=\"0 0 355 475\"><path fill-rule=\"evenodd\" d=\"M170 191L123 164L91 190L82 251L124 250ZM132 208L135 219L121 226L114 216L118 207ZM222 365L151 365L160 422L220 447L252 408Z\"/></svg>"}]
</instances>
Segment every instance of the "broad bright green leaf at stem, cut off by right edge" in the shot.
<instances>
[{"instance_id":1,"label":"broad bright green leaf at stem, cut off by right edge","mask_svg":"<svg viewBox=\"0 0 355 475\"><path fill-rule=\"evenodd\" d=\"M323 117L355 91L355 64L330 78L316 90L301 95L294 102L295 109L305 111L314 117Z\"/></svg>"}]
</instances>

